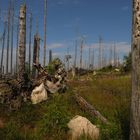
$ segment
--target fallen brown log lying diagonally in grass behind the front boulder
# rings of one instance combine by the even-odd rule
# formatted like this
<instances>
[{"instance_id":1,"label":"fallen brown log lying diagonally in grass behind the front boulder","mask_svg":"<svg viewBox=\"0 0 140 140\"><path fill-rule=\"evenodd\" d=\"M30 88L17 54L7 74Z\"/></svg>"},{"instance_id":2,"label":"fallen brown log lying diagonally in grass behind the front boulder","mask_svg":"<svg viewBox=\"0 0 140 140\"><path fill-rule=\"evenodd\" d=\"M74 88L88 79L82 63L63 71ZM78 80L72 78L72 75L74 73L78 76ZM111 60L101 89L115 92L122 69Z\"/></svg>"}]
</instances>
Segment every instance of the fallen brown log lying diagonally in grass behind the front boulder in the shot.
<instances>
[{"instance_id":1,"label":"fallen brown log lying diagonally in grass behind the front boulder","mask_svg":"<svg viewBox=\"0 0 140 140\"><path fill-rule=\"evenodd\" d=\"M75 99L81 109L88 112L91 116L97 117L104 124L109 124L108 120L79 94L75 94Z\"/></svg>"}]
</instances>

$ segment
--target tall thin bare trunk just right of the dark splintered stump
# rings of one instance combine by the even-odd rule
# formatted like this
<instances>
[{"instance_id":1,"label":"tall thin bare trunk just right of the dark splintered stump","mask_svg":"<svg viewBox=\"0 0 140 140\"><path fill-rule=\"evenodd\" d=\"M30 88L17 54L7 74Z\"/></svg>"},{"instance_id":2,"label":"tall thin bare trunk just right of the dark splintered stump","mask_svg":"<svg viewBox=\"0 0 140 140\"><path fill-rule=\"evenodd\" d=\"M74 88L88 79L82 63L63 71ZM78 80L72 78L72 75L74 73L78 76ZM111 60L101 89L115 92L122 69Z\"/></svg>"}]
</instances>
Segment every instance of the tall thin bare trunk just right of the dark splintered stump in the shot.
<instances>
[{"instance_id":1,"label":"tall thin bare trunk just right of the dark splintered stump","mask_svg":"<svg viewBox=\"0 0 140 140\"><path fill-rule=\"evenodd\" d=\"M44 0L44 58L43 65L46 65L46 20L47 20L47 0Z\"/></svg>"}]
</instances>

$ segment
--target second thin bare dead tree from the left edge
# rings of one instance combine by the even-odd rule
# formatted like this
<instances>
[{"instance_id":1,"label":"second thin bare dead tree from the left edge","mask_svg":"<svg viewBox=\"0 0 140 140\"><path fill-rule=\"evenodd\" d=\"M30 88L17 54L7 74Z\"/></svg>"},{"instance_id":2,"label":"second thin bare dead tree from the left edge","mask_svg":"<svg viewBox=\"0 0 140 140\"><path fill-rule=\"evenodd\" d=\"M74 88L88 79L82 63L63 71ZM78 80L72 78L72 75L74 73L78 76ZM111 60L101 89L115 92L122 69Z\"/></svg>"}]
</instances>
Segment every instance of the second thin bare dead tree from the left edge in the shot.
<instances>
[{"instance_id":1,"label":"second thin bare dead tree from the left edge","mask_svg":"<svg viewBox=\"0 0 140 140\"><path fill-rule=\"evenodd\" d=\"M9 8L8 8L8 32L7 32L6 74L8 74L8 69L9 69L10 17L11 17L11 2L9 3Z\"/></svg>"}]
</instances>

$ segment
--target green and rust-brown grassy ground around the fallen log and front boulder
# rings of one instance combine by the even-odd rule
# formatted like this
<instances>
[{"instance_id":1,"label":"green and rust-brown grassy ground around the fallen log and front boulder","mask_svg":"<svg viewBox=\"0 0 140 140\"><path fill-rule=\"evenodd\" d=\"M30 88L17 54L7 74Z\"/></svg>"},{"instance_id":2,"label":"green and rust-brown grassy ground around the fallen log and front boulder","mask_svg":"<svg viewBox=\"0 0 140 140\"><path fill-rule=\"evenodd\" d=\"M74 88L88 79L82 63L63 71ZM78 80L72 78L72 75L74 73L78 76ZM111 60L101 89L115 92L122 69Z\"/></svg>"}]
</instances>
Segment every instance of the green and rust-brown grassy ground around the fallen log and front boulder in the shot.
<instances>
[{"instance_id":1,"label":"green and rust-brown grassy ground around the fallen log and front boulder","mask_svg":"<svg viewBox=\"0 0 140 140\"><path fill-rule=\"evenodd\" d=\"M88 118L100 129L101 140L128 140L130 116L130 75L88 74L69 80L64 94L54 94L37 105L30 102L18 111L0 105L1 140L67 140L67 123L76 115ZM105 125L79 108L74 93L92 104L110 125ZM81 140L84 140L81 137Z\"/></svg>"}]
</instances>

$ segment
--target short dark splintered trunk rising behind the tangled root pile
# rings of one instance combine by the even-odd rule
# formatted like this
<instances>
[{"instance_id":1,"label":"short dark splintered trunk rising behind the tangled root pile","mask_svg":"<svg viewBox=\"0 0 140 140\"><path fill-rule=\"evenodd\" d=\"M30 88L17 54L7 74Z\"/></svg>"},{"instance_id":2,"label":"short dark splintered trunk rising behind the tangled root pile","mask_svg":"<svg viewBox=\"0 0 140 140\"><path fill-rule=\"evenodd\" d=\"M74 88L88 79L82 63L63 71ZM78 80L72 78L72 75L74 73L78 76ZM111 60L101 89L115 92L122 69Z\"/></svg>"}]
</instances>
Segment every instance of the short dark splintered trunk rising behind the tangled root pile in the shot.
<instances>
[{"instance_id":1,"label":"short dark splintered trunk rising behind the tangled root pile","mask_svg":"<svg viewBox=\"0 0 140 140\"><path fill-rule=\"evenodd\" d=\"M34 51L33 51L33 64L39 64L39 49L40 49L40 37L38 34L34 36ZM32 77L36 78L37 71L36 68L33 67Z\"/></svg>"}]
</instances>

